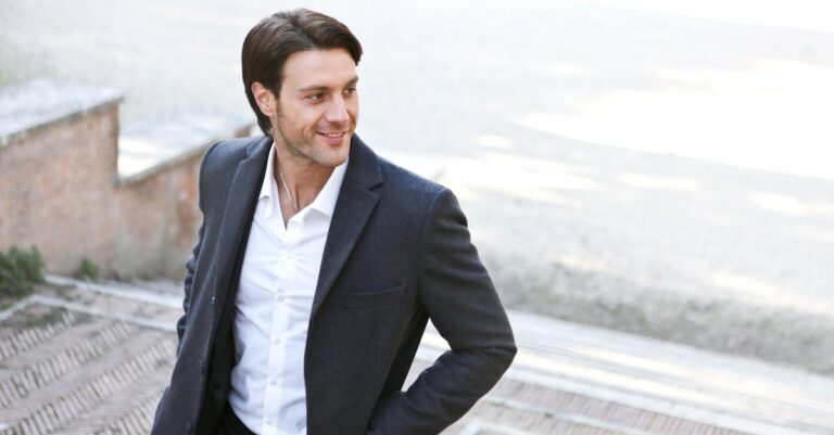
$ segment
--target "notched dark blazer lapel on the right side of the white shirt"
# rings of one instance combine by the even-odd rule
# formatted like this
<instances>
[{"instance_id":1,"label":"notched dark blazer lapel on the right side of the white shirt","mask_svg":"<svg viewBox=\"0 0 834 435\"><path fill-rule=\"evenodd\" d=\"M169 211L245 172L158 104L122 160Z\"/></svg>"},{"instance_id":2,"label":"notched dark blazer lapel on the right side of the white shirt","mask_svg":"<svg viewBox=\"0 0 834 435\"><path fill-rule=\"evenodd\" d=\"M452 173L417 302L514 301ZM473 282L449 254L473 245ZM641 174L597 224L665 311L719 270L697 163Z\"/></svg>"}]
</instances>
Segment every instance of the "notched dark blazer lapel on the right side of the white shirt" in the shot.
<instances>
[{"instance_id":1,"label":"notched dark blazer lapel on the right side of the white shirt","mask_svg":"<svg viewBox=\"0 0 834 435\"><path fill-rule=\"evenodd\" d=\"M371 189L381 183L382 174L377 155L354 135L351 139L351 159L348 171L342 181L342 189L339 192L327 242L325 242L311 319L330 293L365 223L377 206L379 194Z\"/></svg>"}]
</instances>

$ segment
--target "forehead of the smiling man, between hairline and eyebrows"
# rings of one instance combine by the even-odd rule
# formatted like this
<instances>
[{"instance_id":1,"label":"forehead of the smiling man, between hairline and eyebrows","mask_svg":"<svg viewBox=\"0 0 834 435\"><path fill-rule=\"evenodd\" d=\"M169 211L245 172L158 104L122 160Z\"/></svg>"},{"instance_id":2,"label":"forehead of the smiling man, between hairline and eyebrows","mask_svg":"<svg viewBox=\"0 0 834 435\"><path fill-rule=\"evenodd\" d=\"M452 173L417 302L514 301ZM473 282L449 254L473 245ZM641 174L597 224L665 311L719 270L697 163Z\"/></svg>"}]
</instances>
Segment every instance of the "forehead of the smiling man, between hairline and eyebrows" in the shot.
<instances>
[{"instance_id":1,"label":"forehead of the smiling man, between hairline and eyebrows","mask_svg":"<svg viewBox=\"0 0 834 435\"><path fill-rule=\"evenodd\" d=\"M356 65L344 49L307 50L290 54L283 64L282 88L342 87L356 77Z\"/></svg>"}]
</instances>

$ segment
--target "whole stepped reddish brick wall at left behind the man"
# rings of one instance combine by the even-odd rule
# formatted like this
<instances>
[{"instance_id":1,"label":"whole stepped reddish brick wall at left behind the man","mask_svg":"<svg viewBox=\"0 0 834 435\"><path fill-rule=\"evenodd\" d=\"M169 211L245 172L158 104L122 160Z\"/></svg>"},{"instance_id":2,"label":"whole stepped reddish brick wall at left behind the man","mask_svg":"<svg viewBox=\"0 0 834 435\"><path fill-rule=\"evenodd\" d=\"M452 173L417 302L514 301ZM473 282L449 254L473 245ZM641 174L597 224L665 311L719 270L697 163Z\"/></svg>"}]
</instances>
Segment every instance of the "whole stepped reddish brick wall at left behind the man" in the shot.
<instances>
[{"instance_id":1,"label":"whole stepped reddish brick wall at left behind the man","mask_svg":"<svg viewBox=\"0 0 834 435\"><path fill-rule=\"evenodd\" d=\"M111 277L181 278L202 149L126 182L117 154L118 100L4 137L0 250L35 245L58 274L88 257Z\"/></svg>"}]
</instances>

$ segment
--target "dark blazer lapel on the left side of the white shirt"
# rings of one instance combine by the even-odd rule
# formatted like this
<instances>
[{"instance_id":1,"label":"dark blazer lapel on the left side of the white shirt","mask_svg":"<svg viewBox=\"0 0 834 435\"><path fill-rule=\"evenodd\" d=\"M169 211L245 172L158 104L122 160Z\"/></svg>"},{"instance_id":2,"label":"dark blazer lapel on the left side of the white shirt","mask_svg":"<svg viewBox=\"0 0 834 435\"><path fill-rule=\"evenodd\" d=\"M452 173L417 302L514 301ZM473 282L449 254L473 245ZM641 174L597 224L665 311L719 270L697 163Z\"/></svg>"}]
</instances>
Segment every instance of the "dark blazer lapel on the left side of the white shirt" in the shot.
<instances>
[{"instance_id":1,"label":"dark blazer lapel on the left side of the white shirt","mask_svg":"<svg viewBox=\"0 0 834 435\"><path fill-rule=\"evenodd\" d=\"M226 207L220 223L219 241L214 261L216 273L216 298L214 321L217 322L222 308L226 306L229 290L236 284L231 282L235 277L238 257L243 245L243 236L248 233L249 222L252 220L255 199L264 180L264 170L268 152L271 150L271 140L265 137L247 148L247 158L238 164L229 187Z\"/></svg>"}]
</instances>

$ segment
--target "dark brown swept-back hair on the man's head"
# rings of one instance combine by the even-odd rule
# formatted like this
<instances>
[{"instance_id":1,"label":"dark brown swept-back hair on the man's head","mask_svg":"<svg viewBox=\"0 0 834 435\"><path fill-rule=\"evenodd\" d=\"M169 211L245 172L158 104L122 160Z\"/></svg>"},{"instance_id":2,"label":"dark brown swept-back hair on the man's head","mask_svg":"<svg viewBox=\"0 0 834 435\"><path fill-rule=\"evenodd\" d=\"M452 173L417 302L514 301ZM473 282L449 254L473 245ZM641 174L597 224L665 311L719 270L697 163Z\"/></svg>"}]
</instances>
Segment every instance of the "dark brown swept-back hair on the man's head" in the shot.
<instances>
[{"instance_id":1,"label":"dark brown swept-back hair on the man's head","mask_svg":"<svg viewBox=\"0 0 834 435\"><path fill-rule=\"evenodd\" d=\"M271 125L257 107L252 84L260 82L277 97L287 59L299 51L323 49L348 50L357 65L362 57L362 46L348 26L306 9L278 12L249 30L241 53L243 86L264 135L271 136Z\"/></svg>"}]
</instances>

